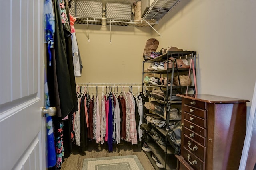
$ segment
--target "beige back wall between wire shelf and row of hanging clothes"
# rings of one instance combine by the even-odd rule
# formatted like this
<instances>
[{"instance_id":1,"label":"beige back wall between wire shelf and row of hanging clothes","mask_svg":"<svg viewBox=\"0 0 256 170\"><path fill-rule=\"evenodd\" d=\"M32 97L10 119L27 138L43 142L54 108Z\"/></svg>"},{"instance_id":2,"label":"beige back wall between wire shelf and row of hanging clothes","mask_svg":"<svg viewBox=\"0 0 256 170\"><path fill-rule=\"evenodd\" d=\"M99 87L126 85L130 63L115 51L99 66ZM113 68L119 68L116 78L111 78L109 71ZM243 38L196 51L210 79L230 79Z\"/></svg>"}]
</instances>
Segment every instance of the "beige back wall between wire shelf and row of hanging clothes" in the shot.
<instances>
[{"instance_id":1,"label":"beige back wall between wire shelf and row of hanging clothes","mask_svg":"<svg viewBox=\"0 0 256 170\"><path fill-rule=\"evenodd\" d=\"M75 25L83 70L76 83L140 83L150 28ZM111 35L111 43L110 43Z\"/></svg>"}]
</instances>

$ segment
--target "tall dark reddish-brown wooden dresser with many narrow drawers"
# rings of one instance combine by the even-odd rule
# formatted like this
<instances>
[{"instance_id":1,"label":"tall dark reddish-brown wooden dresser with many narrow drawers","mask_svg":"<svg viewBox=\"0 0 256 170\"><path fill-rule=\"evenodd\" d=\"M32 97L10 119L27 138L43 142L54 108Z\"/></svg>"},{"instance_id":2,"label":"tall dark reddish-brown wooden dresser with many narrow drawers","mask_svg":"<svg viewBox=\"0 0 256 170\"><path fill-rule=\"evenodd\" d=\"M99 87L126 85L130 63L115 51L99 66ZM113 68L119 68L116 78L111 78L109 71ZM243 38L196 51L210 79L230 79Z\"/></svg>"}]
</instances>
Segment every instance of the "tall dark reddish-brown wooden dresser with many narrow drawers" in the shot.
<instances>
[{"instance_id":1,"label":"tall dark reddish-brown wooden dresser with many narrow drawers","mask_svg":"<svg viewBox=\"0 0 256 170\"><path fill-rule=\"evenodd\" d=\"M246 102L209 94L182 97L179 170L238 170L246 133Z\"/></svg>"}]
</instances>

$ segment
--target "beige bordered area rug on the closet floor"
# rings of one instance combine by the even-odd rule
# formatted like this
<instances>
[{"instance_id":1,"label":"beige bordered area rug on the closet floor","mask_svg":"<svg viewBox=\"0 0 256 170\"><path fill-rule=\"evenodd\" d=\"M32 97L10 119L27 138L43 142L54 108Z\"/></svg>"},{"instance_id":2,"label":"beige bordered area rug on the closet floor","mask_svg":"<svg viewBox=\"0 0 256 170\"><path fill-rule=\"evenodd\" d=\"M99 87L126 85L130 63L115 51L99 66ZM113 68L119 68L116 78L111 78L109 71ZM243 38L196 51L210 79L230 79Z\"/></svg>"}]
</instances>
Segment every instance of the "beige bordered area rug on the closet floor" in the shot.
<instances>
[{"instance_id":1,"label":"beige bordered area rug on the closet floor","mask_svg":"<svg viewBox=\"0 0 256 170\"><path fill-rule=\"evenodd\" d=\"M84 159L83 170L144 170L136 155Z\"/></svg>"}]
</instances>

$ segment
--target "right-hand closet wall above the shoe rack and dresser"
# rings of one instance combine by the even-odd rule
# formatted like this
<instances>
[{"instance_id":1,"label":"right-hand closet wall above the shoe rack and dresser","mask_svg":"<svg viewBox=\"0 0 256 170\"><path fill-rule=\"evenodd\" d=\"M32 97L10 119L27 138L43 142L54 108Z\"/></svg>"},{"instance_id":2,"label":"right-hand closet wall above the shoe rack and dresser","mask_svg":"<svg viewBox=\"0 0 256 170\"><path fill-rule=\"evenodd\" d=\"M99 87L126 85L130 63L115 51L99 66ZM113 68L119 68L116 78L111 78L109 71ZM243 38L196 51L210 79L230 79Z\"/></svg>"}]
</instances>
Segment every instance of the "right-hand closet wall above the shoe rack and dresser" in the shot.
<instances>
[{"instance_id":1,"label":"right-hand closet wall above the shoe rack and dresser","mask_svg":"<svg viewBox=\"0 0 256 170\"><path fill-rule=\"evenodd\" d=\"M197 51L199 93L252 101L255 7L255 0L181 0L155 26L162 37L154 37L165 48Z\"/></svg>"}]
</instances>

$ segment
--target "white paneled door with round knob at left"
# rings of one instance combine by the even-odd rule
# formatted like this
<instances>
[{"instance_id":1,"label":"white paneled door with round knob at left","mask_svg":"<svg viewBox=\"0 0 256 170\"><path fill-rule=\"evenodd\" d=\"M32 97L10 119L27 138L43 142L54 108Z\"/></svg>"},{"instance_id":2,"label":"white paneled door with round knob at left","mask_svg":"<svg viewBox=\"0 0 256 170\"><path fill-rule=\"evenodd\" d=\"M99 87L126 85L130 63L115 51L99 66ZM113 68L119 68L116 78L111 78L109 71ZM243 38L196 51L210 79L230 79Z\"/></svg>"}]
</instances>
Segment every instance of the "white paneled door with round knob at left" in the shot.
<instances>
[{"instance_id":1,"label":"white paneled door with round knob at left","mask_svg":"<svg viewBox=\"0 0 256 170\"><path fill-rule=\"evenodd\" d=\"M0 170L46 167L43 4L0 0Z\"/></svg>"}]
</instances>

